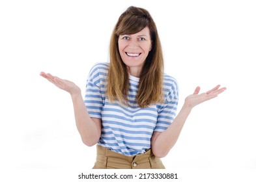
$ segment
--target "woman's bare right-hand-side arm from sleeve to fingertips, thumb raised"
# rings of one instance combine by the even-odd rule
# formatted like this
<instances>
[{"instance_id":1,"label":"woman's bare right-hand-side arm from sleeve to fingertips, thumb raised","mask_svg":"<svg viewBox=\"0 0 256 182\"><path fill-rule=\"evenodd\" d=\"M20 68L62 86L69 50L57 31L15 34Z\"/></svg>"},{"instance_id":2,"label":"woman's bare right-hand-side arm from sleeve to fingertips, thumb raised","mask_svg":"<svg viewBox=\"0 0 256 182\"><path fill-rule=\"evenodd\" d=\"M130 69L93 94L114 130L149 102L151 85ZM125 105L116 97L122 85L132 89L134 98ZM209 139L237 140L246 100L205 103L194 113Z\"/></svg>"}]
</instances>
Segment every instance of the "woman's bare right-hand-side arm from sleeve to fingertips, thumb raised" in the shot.
<instances>
[{"instance_id":1,"label":"woman's bare right-hand-side arm from sleeve to fingertips, thumb raised","mask_svg":"<svg viewBox=\"0 0 256 182\"><path fill-rule=\"evenodd\" d=\"M220 85L218 85L208 92L198 94L200 87L195 88L195 92L185 99L184 105L173 120L173 123L162 133L153 133L151 138L152 153L154 153L156 157L165 157L177 142L180 131L193 107L209 99L216 98L218 94L224 92L225 89L225 87L220 88Z\"/></svg>"}]
</instances>

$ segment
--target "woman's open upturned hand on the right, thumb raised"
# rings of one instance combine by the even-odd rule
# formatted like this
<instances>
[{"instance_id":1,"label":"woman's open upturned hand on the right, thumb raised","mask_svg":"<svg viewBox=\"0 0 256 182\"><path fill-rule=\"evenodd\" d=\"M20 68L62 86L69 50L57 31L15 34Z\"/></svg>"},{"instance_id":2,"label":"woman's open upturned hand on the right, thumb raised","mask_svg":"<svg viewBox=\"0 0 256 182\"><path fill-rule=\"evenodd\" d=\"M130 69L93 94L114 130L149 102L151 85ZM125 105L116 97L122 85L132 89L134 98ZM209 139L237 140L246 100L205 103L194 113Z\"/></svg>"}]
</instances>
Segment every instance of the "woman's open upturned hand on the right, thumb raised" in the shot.
<instances>
[{"instance_id":1,"label":"woman's open upturned hand on the right, thumb raised","mask_svg":"<svg viewBox=\"0 0 256 182\"><path fill-rule=\"evenodd\" d=\"M224 90L226 89L227 88L225 87L220 88L220 85L217 85L214 88L212 88L212 90L199 94L200 87L197 86L197 88L195 88L195 92L193 92L192 95L188 96L185 99L184 105L192 109L193 107L195 107L196 105L199 105L200 103L203 103L204 101L208 101L210 99L216 98L219 94L224 92Z\"/></svg>"}]
</instances>

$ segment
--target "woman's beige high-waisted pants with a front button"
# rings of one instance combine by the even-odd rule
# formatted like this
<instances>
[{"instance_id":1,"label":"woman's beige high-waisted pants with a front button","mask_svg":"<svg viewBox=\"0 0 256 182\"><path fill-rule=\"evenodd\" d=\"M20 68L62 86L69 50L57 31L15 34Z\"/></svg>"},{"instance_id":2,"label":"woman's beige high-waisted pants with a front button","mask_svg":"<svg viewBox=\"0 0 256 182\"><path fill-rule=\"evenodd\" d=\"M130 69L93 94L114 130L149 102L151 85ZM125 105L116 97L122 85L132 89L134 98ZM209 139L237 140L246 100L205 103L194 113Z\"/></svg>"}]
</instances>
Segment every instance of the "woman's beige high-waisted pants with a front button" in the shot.
<instances>
[{"instance_id":1,"label":"woman's beige high-waisted pants with a front button","mask_svg":"<svg viewBox=\"0 0 256 182\"><path fill-rule=\"evenodd\" d=\"M143 154L127 156L97 145L93 169L165 169L165 166L151 149Z\"/></svg>"}]
</instances>

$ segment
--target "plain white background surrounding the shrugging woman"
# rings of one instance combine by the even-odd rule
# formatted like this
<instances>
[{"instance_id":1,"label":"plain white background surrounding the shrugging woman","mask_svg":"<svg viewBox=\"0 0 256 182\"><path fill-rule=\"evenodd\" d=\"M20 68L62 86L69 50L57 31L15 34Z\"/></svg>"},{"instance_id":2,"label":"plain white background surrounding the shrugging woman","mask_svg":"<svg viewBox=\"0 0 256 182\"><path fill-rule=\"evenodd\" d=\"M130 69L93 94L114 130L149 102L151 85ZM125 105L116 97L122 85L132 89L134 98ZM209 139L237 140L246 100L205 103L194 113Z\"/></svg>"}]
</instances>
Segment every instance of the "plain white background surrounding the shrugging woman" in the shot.
<instances>
[{"instance_id":1,"label":"plain white background surrounding the shrugging woman","mask_svg":"<svg viewBox=\"0 0 256 182\"><path fill-rule=\"evenodd\" d=\"M193 109L165 167L256 168L253 1L0 2L0 168L92 168L96 148L81 142L70 96L39 73L74 81L84 94L92 65L109 61L111 31L130 5L156 22L165 73L180 86L178 110L196 86L227 87Z\"/></svg>"}]
</instances>

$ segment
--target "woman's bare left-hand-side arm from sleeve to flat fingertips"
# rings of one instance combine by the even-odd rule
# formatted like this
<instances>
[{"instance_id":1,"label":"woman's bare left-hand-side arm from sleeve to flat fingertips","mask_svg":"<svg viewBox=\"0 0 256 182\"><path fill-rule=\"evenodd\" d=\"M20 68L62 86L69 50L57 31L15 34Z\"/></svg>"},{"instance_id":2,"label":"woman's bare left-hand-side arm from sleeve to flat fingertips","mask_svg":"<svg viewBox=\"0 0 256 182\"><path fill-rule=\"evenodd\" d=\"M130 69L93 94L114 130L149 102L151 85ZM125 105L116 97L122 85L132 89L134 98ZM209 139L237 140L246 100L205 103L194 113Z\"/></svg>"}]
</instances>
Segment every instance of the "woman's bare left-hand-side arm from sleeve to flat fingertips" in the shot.
<instances>
[{"instance_id":1,"label":"woman's bare left-hand-side arm from sleeve to flat fingertips","mask_svg":"<svg viewBox=\"0 0 256 182\"><path fill-rule=\"evenodd\" d=\"M87 146L96 144L100 138L102 122L99 118L91 118L89 116L81 96L81 89L71 81L60 79L50 73L41 72L40 75L70 94L74 106L76 127L78 128L83 143Z\"/></svg>"}]
</instances>

